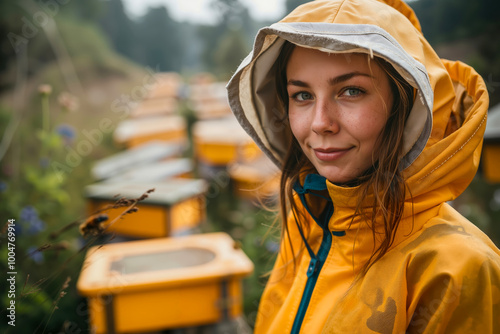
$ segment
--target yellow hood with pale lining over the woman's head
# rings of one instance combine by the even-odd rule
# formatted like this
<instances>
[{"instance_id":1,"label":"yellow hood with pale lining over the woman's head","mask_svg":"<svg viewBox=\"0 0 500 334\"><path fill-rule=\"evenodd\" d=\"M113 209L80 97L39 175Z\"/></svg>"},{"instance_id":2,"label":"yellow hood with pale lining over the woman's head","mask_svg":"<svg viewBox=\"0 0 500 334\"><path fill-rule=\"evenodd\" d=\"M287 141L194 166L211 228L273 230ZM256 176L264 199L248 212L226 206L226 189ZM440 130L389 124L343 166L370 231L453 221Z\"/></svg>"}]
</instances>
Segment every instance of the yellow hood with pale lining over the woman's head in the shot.
<instances>
[{"instance_id":1,"label":"yellow hood with pale lining over the woman's head","mask_svg":"<svg viewBox=\"0 0 500 334\"><path fill-rule=\"evenodd\" d=\"M383 58L415 88L403 139L402 168L406 177L419 174L418 179L427 178L453 152L462 150L467 139L454 132L474 119L466 130L457 131L462 136L474 134L479 138L469 145L475 152L469 159L472 167L464 166L464 175L457 176L460 192L467 187L477 170L486 123L485 85L470 67L443 62L438 57L408 5L400 0L311 1L258 32L252 52L227 85L228 98L241 126L280 168L292 138L287 113L275 88L275 62L285 41L325 52L365 53ZM450 69L454 73L450 74ZM479 106L476 102L480 102ZM445 138L450 134L455 136ZM434 149L422 157L424 148L432 146ZM444 151L452 153L444 157ZM422 170L429 175L422 175ZM417 188L411 189L417 191L413 195L418 195Z\"/></svg>"}]
</instances>

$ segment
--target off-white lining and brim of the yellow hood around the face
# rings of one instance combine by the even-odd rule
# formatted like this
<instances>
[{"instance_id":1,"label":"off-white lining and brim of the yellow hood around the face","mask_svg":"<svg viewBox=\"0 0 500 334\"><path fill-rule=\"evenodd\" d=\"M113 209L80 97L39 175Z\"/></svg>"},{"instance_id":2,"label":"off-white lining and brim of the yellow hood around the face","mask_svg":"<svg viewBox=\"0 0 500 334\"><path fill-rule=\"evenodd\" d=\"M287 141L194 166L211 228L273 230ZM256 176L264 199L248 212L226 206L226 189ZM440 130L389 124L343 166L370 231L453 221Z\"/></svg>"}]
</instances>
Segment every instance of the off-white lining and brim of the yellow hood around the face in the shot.
<instances>
[{"instance_id":1,"label":"off-white lining and brim of the yellow hood around the face","mask_svg":"<svg viewBox=\"0 0 500 334\"><path fill-rule=\"evenodd\" d=\"M254 50L227 85L231 109L242 127L278 166L291 142L275 90L273 66L284 41L332 53L366 53L389 63L417 89L404 130L403 168L421 153L432 128L433 92L425 67L383 29L373 25L276 23L257 34Z\"/></svg>"}]
</instances>

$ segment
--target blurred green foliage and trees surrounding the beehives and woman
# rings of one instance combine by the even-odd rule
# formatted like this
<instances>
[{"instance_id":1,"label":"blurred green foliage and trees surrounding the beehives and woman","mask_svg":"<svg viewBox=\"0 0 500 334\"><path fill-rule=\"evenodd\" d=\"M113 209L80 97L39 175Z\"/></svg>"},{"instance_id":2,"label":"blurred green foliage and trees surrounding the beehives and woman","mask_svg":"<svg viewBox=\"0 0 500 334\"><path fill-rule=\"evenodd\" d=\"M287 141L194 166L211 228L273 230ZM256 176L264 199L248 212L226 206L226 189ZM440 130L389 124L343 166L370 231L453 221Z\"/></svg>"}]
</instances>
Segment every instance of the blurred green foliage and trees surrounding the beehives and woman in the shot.
<instances>
[{"instance_id":1,"label":"blurred green foliage and trees surrounding the beehives and woman","mask_svg":"<svg viewBox=\"0 0 500 334\"><path fill-rule=\"evenodd\" d=\"M286 0L283 16L303 2ZM500 3L409 4L437 53L473 65L486 81L490 105L499 103ZM238 0L212 0L211 6L217 21L208 25L178 22L164 6L131 18L121 0L0 2L0 217L17 221L17 291L22 295L18 327L12 331L2 321L1 332L88 332L85 300L75 289L86 241L75 229L55 239L50 233L85 216L82 189L93 181L92 163L120 147L105 133L67 177L48 166L70 154L83 129L97 128L105 117L116 125L119 115L113 106L120 101L132 108L137 102L134 87L151 71L178 72L186 82L199 72L228 80L250 51L258 29L271 22L251 17ZM49 19L44 21L40 13ZM49 84L51 91L40 91L42 84ZM183 114L193 122L187 106ZM271 268L277 250L275 238L263 241L274 218L238 202L229 185L211 186L219 187L220 195L207 203L206 230L229 232L256 265L245 282L245 315L252 325L265 282L262 274ZM500 245L498 185L487 183L479 173L454 205ZM6 272L3 234L0 242L0 268ZM49 249L37 251L46 243ZM68 277L69 287L64 288ZM61 298L63 288L67 295ZM0 290L7 291L5 280ZM5 310L6 294L0 300Z\"/></svg>"}]
</instances>

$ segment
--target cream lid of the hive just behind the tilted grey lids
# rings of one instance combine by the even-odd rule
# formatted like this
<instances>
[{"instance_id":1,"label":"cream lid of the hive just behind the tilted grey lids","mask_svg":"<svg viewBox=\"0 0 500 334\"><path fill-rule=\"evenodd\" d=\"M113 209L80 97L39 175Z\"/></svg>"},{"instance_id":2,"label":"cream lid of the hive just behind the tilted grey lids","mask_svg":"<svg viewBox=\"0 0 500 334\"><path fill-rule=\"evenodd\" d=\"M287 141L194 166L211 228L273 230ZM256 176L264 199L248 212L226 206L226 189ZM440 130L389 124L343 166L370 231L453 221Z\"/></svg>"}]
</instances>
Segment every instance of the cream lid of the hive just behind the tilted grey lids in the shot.
<instances>
[{"instance_id":1,"label":"cream lid of the hive just behind the tilted grey lids","mask_svg":"<svg viewBox=\"0 0 500 334\"><path fill-rule=\"evenodd\" d=\"M186 121L178 115L134 118L120 122L116 127L114 137L118 142L126 142L138 136L172 132L185 128Z\"/></svg>"}]
</instances>

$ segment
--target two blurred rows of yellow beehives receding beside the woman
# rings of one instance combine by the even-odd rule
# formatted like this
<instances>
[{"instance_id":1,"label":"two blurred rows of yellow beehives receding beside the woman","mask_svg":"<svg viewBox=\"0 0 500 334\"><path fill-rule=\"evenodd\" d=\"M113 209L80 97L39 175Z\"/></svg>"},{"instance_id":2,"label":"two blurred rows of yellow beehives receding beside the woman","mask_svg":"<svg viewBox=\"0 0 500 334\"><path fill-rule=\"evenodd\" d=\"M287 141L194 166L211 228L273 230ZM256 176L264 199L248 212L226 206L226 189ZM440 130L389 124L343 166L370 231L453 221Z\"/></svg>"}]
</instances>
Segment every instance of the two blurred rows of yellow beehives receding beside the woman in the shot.
<instances>
[{"instance_id":1,"label":"two blurred rows of yellow beehives receding beside the woman","mask_svg":"<svg viewBox=\"0 0 500 334\"><path fill-rule=\"evenodd\" d=\"M96 333L234 326L242 315L241 278L253 264L229 235L196 233L205 220L207 181L193 178L194 165L202 176L227 173L240 196L277 190L275 167L230 114L223 84L200 76L186 92L178 76L161 78L117 127L115 139L126 149L96 163L92 172L99 181L86 187L91 213L112 205L118 194L137 198L155 189L134 214L116 220L124 208L108 210L108 221L116 220L109 232L143 240L96 247L87 255L78 289L88 297ZM174 103L183 96L199 118L192 128L194 159L183 157L188 131ZM160 106L170 109L161 112ZM239 322L229 332L244 328Z\"/></svg>"}]
</instances>

